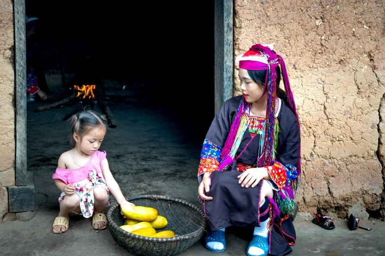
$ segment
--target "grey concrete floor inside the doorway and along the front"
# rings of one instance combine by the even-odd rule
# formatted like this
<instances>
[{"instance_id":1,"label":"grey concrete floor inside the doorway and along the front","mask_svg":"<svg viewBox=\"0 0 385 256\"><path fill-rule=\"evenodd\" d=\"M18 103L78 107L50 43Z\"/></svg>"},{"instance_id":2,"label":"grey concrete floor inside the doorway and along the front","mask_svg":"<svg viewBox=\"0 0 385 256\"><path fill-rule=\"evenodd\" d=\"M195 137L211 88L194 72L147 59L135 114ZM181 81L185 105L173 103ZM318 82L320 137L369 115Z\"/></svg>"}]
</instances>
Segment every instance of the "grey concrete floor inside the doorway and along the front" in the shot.
<instances>
[{"instance_id":1,"label":"grey concrete floor inside the doorway and along the front","mask_svg":"<svg viewBox=\"0 0 385 256\"><path fill-rule=\"evenodd\" d=\"M66 150L68 129L61 122L76 106L35 113L40 102L28 103L28 167L34 173L35 211L27 222L0 223L2 256L107 256L131 255L112 238L109 230L95 231L91 219L71 217L69 230L54 234L52 224L59 212L59 190L52 174L59 155ZM123 194L169 195L202 208L197 198L196 179L204 129L196 120L181 120L173 111L135 101L110 106L118 124L103 141L107 159ZM190 136L191 135L191 136ZM203 136L203 137L202 137ZM115 202L115 201L113 201ZM108 208L106 208L107 212ZM335 220L334 230L311 222L311 215L298 213L294 226L295 256L385 255L385 223L360 221L371 231L347 227L347 220ZM217 255L243 256L248 241L226 234L226 250ZM201 242L180 256L211 256Z\"/></svg>"}]
</instances>

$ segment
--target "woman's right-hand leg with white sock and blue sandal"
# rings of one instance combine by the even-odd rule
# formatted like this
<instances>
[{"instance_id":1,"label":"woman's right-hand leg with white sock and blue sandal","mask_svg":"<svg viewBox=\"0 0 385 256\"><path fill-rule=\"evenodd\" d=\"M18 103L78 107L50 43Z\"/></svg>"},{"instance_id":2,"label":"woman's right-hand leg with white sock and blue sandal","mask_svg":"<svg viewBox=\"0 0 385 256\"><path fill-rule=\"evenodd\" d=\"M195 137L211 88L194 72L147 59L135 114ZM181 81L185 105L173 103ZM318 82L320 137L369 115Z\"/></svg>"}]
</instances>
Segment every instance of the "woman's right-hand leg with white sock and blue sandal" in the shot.
<instances>
[{"instance_id":1,"label":"woman's right-hand leg with white sock and blue sandal","mask_svg":"<svg viewBox=\"0 0 385 256\"><path fill-rule=\"evenodd\" d=\"M265 256L268 255L268 222L270 220L268 212L268 200L273 198L273 189L267 182L262 183L260 194L260 227L254 228L253 239L251 240L246 254L248 256ZM264 214L265 213L265 214Z\"/></svg>"}]
</instances>

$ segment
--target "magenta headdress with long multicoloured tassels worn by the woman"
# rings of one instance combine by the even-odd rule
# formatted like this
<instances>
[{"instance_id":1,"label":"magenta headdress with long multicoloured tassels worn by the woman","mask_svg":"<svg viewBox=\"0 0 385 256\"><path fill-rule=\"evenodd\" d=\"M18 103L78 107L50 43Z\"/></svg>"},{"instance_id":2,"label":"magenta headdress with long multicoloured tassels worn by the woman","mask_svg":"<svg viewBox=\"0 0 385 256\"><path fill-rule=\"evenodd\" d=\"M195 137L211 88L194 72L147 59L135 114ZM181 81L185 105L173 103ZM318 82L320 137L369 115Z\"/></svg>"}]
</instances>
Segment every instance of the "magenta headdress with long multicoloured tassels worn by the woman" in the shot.
<instances>
[{"instance_id":1,"label":"magenta headdress with long multicoloured tassels worn by the woman","mask_svg":"<svg viewBox=\"0 0 385 256\"><path fill-rule=\"evenodd\" d=\"M264 132L264 146L262 150L262 154L260 155L258 162L256 164L257 167L272 165L275 161L275 154L273 153L273 143L274 143L274 124L275 124L275 98L276 98L276 79L277 79L277 73L276 73L276 66L281 64L281 70L282 70L282 77L283 77L283 83L285 85L285 91L287 94L287 100L289 103L290 108L292 109L293 113L296 115L297 121L298 121L298 127L299 120L298 120L298 114L296 112L296 104L294 102L294 97L292 90L290 88L289 83L289 77L286 72L286 66L285 62L283 61L283 58L276 54L275 51L272 50L273 44L270 45L261 45L256 44L253 45L249 51L246 51L245 53L237 56L236 61L239 61L239 68L246 69L246 70L267 70L267 76L265 81L265 88L264 88L264 94L267 93L267 109L266 109L266 126L265 126L265 132ZM232 131L237 131L240 124L240 116L242 115L243 111L246 110L246 104L242 102L239 106L238 113L236 116L236 120L233 123L234 127L231 128L231 132L228 136L228 139L225 142L225 145L223 147L222 157L225 157L227 155L227 152L230 152L232 150L232 147L234 145L234 140L236 136L232 135ZM239 119L239 120L237 120ZM234 139L232 139L234 137ZM300 150L299 150L300 152ZM229 154L230 155L230 154ZM222 158L221 157L221 158ZM224 160L224 161L222 161ZM297 164L297 172L298 177L300 175L300 153L299 153L299 160ZM221 166L225 167L227 165L227 159L221 159Z\"/></svg>"}]
</instances>

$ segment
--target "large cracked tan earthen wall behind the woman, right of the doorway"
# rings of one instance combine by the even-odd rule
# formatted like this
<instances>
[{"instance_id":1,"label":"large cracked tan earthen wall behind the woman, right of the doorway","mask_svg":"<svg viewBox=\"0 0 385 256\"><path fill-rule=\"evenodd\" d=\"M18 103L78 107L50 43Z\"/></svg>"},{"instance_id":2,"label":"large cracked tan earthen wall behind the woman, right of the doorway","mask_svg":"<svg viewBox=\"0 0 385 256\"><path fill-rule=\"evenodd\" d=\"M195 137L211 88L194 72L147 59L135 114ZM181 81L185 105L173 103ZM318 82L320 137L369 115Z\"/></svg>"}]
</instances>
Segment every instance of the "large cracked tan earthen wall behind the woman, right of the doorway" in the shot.
<instances>
[{"instance_id":1,"label":"large cracked tan earthen wall behind the woman, right of the doorway","mask_svg":"<svg viewBox=\"0 0 385 256\"><path fill-rule=\"evenodd\" d=\"M381 0L235 0L235 56L274 44L301 130L299 210L385 216L385 13ZM235 95L240 94L235 64ZM282 88L282 87L281 87ZM384 196L384 195L383 195Z\"/></svg>"}]
</instances>

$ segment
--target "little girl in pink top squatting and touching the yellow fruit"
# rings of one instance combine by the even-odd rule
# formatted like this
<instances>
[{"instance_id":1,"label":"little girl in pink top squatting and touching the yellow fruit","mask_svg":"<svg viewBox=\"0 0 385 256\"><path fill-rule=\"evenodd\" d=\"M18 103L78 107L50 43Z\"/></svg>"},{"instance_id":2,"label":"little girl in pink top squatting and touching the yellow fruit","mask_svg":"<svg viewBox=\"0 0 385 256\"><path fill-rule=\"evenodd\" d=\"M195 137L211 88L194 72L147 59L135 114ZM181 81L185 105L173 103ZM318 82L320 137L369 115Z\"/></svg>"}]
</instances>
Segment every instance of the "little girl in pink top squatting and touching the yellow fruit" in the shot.
<instances>
[{"instance_id":1,"label":"little girl in pink top squatting and touching the yellow fruit","mask_svg":"<svg viewBox=\"0 0 385 256\"><path fill-rule=\"evenodd\" d=\"M125 200L111 174L106 152L98 149L107 132L107 119L93 110L85 110L70 119L71 150L59 157L58 168L52 176L60 189L60 212L55 218L53 232L68 229L69 214L92 216L92 227L104 230L107 218L104 208L111 204L111 194L119 205L134 205ZM110 193L111 192L111 193Z\"/></svg>"}]
</instances>

